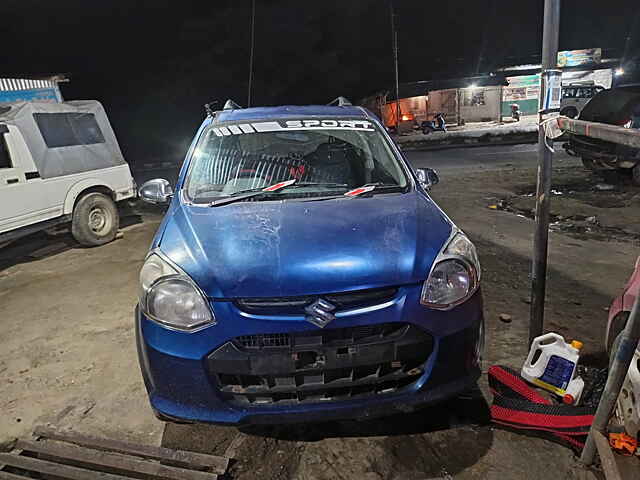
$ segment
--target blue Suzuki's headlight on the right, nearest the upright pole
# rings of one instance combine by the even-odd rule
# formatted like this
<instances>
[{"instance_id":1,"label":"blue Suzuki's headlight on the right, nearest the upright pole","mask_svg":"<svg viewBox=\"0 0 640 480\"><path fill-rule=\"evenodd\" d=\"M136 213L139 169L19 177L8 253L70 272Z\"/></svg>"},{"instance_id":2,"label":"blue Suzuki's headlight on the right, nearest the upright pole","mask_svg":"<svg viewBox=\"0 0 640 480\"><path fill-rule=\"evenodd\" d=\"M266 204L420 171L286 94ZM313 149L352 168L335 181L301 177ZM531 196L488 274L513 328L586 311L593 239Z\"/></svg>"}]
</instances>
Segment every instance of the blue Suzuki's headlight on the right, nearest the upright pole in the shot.
<instances>
[{"instance_id":1,"label":"blue Suzuki's headlight on the right, nearest the upright pole","mask_svg":"<svg viewBox=\"0 0 640 480\"><path fill-rule=\"evenodd\" d=\"M420 303L438 310L461 304L480 285L480 262L476 247L457 232L438 254L429 278L424 282Z\"/></svg>"}]
</instances>

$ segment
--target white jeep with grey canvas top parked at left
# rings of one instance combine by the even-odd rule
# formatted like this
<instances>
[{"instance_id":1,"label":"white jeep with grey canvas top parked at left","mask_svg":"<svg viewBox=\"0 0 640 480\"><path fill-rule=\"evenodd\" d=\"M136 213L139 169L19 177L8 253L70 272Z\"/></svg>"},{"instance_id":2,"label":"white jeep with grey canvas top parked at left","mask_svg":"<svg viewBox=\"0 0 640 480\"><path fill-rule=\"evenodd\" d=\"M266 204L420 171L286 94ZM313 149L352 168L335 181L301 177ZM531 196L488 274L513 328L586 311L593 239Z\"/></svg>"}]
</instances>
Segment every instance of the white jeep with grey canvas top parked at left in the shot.
<instances>
[{"instance_id":1,"label":"white jeep with grey canvas top parked at left","mask_svg":"<svg viewBox=\"0 0 640 480\"><path fill-rule=\"evenodd\" d=\"M62 223L95 246L113 240L136 186L102 105L0 106L0 244Z\"/></svg>"}]
</instances>

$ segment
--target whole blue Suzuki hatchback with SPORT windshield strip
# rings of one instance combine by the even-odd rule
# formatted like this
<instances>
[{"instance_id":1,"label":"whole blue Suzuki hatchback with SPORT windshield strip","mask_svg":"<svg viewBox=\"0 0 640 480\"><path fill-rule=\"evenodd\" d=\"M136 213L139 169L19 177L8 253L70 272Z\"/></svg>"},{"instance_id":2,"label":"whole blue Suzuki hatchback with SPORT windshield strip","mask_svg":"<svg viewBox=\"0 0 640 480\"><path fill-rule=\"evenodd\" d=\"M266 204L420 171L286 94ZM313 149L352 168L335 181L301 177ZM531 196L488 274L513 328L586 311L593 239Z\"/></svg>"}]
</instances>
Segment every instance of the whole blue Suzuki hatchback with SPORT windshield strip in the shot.
<instances>
[{"instance_id":1,"label":"whole blue Suzuki hatchback with SPORT windshield strip","mask_svg":"<svg viewBox=\"0 0 640 480\"><path fill-rule=\"evenodd\" d=\"M210 112L140 272L140 366L159 418L362 419L480 374L474 245L378 120L351 105Z\"/></svg>"}]
</instances>

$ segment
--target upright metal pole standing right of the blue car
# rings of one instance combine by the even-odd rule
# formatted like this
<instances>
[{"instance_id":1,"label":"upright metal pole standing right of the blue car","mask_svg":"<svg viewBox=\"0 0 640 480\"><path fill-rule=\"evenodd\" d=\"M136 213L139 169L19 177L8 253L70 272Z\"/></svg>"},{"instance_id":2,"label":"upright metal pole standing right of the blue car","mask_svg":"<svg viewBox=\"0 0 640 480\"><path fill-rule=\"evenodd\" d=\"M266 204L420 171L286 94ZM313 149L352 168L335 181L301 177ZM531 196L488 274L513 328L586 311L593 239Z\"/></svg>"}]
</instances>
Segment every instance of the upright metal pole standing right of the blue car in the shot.
<instances>
[{"instance_id":1,"label":"upright metal pole standing right of the blue car","mask_svg":"<svg viewBox=\"0 0 640 480\"><path fill-rule=\"evenodd\" d=\"M531 317L529 345L542 334L544 301L547 280L547 247L549 243L549 200L553 152L547 147L543 113L549 99L545 92L549 83L547 72L558 65L558 33L560 30L560 0L545 0L542 31L542 73L540 74L540 103L538 113L538 182L536 189L536 229L533 238L531 265ZM558 92L559 93L559 92Z\"/></svg>"}]
</instances>

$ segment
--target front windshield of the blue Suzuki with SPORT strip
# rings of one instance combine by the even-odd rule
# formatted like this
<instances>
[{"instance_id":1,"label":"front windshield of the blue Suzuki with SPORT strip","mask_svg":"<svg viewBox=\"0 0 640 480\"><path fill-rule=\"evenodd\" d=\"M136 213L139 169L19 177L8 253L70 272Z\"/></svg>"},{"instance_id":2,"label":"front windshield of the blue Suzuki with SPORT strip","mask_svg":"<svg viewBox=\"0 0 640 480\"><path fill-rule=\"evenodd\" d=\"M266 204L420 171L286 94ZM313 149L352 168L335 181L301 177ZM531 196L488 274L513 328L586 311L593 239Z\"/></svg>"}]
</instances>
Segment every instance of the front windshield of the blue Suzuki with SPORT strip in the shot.
<instances>
[{"instance_id":1,"label":"front windshield of the blue Suzuki with SPORT strip","mask_svg":"<svg viewBox=\"0 0 640 480\"><path fill-rule=\"evenodd\" d=\"M295 180L293 188L265 197L342 195L367 184L375 184L376 193L407 186L404 169L372 122L301 119L209 127L194 151L186 194L206 203L287 180Z\"/></svg>"}]
</instances>

